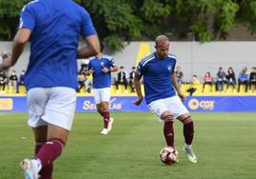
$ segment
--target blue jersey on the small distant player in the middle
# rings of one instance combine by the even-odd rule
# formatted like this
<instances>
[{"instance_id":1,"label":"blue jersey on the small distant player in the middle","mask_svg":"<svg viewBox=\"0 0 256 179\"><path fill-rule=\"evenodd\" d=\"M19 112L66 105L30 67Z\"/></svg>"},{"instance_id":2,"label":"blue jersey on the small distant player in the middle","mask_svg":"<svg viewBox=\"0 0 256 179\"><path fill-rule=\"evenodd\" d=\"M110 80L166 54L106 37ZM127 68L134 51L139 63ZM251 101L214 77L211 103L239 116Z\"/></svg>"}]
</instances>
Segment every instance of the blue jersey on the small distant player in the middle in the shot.
<instances>
[{"instance_id":1,"label":"blue jersey on the small distant player in the middle","mask_svg":"<svg viewBox=\"0 0 256 179\"><path fill-rule=\"evenodd\" d=\"M103 72L103 68L110 69L115 67L115 61L111 56L102 55L101 58L93 58L90 60L88 70L93 72L93 88L104 89L111 86L111 72Z\"/></svg>"}]
</instances>

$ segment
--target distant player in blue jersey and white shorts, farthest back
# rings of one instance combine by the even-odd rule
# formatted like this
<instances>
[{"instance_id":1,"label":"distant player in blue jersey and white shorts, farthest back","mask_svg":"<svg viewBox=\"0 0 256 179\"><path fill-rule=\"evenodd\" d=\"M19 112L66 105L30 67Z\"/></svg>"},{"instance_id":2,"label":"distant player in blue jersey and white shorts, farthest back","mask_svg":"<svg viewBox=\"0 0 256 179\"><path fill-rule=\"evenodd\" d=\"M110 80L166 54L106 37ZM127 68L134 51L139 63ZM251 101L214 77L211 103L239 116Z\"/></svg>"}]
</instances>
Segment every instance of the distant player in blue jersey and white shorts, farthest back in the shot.
<instances>
[{"instance_id":1,"label":"distant player in blue jersey and white shorts, farthest back","mask_svg":"<svg viewBox=\"0 0 256 179\"><path fill-rule=\"evenodd\" d=\"M97 112L103 117L103 129L100 134L107 135L112 129L114 118L110 117L109 101L111 72L118 70L113 57L102 54L104 49L100 43L100 52L91 59L88 66L89 74L93 74L93 90Z\"/></svg>"}]
</instances>

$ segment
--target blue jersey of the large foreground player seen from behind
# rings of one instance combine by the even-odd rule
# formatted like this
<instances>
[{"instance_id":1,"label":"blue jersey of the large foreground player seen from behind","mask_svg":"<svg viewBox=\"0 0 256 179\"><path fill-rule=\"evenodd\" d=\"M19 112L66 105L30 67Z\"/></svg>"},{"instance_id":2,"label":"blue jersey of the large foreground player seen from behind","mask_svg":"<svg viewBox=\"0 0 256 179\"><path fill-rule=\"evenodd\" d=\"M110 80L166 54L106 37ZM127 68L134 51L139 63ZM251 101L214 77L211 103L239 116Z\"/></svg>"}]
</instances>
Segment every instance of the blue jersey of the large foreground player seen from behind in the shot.
<instances>
[{"instance_id":1,"label":"blue jersey of the large foreground player seen from behind","mask_svg":"<svg viewBox=\"0 0 256 179\"><path fill-rule=\"evenodd\" d=\"M19 28L32 30L27 89L77 89L79 36L96 34L89 13L72 0L35 0L20 14Z\"/></svg>"}]
</instances>

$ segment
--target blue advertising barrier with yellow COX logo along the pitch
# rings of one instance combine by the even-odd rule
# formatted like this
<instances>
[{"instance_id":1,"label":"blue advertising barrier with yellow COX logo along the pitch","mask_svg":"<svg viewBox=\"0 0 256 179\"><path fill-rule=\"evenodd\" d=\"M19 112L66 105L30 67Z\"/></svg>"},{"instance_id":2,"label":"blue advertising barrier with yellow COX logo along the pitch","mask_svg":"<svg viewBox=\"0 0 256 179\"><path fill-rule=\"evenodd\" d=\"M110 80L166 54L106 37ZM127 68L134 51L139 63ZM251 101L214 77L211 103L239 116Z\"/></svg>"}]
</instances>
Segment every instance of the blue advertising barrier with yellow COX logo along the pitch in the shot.
<instances>
[{"instance_id":1,"label":"blue advertising barrier with yellow COX logo along the pitch","mask_svg":"<svg viewBox=\"0 0 256 179\"><path fill-rule=\"evenodd\" d=\"M112 111L148 111L145 102L133 105L135 96L112 96ZM0 97L0 112L27 111L26 96ZM192 96L187 97L185 107L190 111L256 111L256 96ZM76 112L96 112L92 96L77 96Z\"/></svg>"}]
</instances>

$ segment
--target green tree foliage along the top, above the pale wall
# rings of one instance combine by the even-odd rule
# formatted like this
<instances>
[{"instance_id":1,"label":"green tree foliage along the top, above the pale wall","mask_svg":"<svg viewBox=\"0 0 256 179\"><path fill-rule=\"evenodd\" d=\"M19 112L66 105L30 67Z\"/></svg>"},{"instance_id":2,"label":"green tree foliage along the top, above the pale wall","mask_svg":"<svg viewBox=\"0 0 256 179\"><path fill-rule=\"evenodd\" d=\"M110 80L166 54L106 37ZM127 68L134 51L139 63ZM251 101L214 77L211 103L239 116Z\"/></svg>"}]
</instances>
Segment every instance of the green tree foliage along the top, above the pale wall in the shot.
<instances>
[{"instance_id":1,"label":"green tree foliage along the top, above the pale wall","mask_svg":"<svg viewBox=\"0 0 256 179\"><path fill-rule=\"evenodd\" d=\"M256 0L75 0L91 13L98 36L113 50L124 41L160 33L194 34L199 41L225 38L235 24L256 32ZM11 40L29 0L0 0L0 39Z\"/></svg>"}]
</instances>

